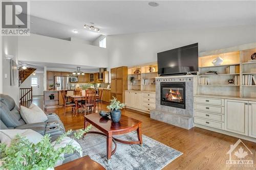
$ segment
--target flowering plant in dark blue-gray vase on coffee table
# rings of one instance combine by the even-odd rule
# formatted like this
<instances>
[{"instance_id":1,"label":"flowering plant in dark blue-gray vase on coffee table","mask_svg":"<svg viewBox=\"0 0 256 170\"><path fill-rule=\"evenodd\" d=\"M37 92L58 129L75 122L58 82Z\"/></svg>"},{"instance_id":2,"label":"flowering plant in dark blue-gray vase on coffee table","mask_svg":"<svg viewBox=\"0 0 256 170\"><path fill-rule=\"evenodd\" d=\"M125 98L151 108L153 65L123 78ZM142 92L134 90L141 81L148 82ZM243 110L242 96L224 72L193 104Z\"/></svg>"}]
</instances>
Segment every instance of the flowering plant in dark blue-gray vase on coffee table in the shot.
<instances>
[{"instance_id":1,"label":"flowering plant in dark blue-gray vase on coffee table","mask_svg":"<svg viewBox=\"0 0 256 170\"><path fill-rule=\"evenodd\" d=\"M124 108L124 103L120 103L117 99L113 96L113 99L110 100L110 105L106 108L110 110L110 116L113 122L119 122L121 117L121 110Z\"/></svg>"}]
</instances>

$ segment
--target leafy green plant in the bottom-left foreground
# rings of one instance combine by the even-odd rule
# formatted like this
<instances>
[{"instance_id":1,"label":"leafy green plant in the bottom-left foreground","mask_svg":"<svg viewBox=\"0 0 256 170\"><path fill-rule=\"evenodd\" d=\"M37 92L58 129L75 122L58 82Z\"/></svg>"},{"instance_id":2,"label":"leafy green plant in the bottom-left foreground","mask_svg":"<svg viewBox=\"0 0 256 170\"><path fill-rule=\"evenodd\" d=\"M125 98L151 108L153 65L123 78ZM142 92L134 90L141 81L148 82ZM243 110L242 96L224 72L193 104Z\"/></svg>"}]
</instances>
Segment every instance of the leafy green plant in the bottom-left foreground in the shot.
<instances>
[{"instance_id":1,"label":"leafy green plant in the bottom-left foreground","mask_svg":"<svg viewBox=\"0 0 256 170\"><path fill-rule=\"evenodd\" d=\"M51 142L50 135L47 134L38 143L30 142L26 137L17 135L11 141L9 147L6 143L0 143L0 169L54 169L57 161L63 160L63 155L73 153L80 150L72 145L73 140L79 139L84 133L89 132L92 126L88 126L85 130L74 132L74 137L63 147L55 147L60 144L67 135L72 133L69 130L60 135L57 140Z\"/></svg>"}]
</instances>

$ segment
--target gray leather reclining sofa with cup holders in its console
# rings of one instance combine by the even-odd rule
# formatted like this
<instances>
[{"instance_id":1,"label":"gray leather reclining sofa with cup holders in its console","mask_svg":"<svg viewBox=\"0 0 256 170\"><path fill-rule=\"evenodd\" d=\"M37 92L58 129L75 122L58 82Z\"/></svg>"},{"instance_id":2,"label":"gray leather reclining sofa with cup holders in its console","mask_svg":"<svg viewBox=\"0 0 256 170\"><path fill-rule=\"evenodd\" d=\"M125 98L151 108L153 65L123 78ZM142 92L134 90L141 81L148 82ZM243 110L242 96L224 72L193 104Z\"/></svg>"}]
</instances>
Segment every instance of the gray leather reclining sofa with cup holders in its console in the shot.
<instances>
[{"instance_id":1,"label":"gray leather reclining sofa with cup holders in its console","mask_svg":"<svg viewBox=\"0 0 256 170\"><path fill-rule=\"evenodd\" d=\"M9 95L0 94L0 129L32 129L41 135L50 134L51 140L54 141L59 135L65 133L65 128L55 113L49 113L47 117L46 122L26 124L19 114L15 101ZM64 157L63 163L66 163L79 158L80 155L75 152L65 154Z\"/></svg>"}]
</instances>

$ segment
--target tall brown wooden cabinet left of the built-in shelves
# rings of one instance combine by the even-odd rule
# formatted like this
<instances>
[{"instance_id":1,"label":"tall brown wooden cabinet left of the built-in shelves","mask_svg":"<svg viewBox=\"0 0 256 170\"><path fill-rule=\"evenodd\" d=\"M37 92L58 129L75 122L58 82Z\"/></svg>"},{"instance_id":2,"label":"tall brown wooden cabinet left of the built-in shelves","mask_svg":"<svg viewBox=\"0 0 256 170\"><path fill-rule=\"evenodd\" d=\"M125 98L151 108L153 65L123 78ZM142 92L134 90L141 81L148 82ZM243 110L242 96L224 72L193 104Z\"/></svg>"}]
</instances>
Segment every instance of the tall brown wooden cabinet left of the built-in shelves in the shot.
<instances>
[{"instance_id":1,"label":"tall brown wooden cabinet left of the built-in shelves","mask_svg":"<svg viewBox=\"0 0 256 170\"><path fill-rule=\"evenodd\" d=\"M111 68L111 96L124 102L124 90L127 90L127 67Z\"/></svg>"}]
</instances>

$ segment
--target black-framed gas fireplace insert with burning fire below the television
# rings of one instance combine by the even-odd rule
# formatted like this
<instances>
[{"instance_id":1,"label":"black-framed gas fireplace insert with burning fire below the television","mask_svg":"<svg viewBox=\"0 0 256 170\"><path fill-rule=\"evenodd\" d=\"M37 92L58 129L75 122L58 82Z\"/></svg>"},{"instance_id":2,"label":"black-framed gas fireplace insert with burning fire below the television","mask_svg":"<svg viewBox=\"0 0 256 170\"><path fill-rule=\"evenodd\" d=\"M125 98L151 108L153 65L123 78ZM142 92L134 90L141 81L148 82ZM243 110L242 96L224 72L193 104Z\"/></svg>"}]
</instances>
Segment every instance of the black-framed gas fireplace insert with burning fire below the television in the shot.
<instances>
[{"instance_id":1,"label":"black-framed gas fireplace insert with burning fire below the television","mask_svg":"<svg viewBox=\"0 0 256 170\"><path fill-rule=\"evenodd\" d=\"M185 82L161 82L161 105L185 109Z\"/></svg>"}]
</instances>

